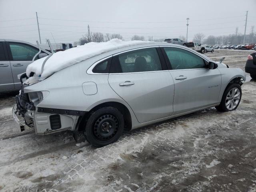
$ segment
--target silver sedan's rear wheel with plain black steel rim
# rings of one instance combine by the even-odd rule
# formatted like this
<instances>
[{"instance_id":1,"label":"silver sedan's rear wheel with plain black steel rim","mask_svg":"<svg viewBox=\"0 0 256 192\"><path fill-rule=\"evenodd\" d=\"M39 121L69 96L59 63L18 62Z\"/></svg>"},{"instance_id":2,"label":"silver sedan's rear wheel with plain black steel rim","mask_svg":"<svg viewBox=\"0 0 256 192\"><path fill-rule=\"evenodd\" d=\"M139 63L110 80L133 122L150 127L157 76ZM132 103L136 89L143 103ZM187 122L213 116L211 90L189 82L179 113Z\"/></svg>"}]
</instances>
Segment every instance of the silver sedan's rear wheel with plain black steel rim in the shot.
<instances>
[{"instance_id":1,"label":"silver sedan's rear wheel with plain black steel rim","mask_svg":"<svg viewBox=\"0 0 256 192\"><path fill-rule=\"evenodd\" d=\"M124 117L114 107L103 107L90 114L84 129L88 142L95 147L114 143L124 130Z\"/></svg>"}]
</instances>

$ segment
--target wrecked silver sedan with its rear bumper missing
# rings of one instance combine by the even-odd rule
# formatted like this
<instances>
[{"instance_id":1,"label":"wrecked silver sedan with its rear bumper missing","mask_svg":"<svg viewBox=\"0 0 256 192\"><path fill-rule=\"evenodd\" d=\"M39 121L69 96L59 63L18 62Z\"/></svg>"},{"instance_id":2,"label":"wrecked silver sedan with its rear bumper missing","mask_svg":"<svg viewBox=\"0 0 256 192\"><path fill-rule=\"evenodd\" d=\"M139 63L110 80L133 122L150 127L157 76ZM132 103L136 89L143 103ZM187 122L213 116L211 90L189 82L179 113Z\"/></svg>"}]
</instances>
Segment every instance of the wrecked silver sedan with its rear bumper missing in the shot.
<instances>
[{"instance_id":1,"label":"wrecked silver sedan with its rear bumper missing","mask_svg":"<svg viewBox=\"0 0 256 192\"><path fill-rule=\"evenodd\" d=\"M99 49L95 56L44 80L30 82L31 77L26 77L13 109L22 129L25 124L18 120L18 114L36 134L81 130L92 145L101 147L118 140L124 129L213 106L232 111L239 105L240 85L246 78L240 68L228 68L177 44L143 42L103 53ZM59 66L63 61L56 57L52 60ZM42 64L41 60L36 62Z\"/></svg>"}]
</instances>

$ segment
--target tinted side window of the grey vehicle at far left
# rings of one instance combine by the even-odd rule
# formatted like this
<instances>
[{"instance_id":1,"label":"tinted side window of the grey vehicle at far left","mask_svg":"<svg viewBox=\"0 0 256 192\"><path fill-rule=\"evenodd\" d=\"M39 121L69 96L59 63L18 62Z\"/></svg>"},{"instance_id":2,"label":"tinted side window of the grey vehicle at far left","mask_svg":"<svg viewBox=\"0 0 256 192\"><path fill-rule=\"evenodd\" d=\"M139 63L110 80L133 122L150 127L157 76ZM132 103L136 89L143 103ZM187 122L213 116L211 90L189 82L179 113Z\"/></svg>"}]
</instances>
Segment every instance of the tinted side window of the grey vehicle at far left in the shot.
<instances>
[{"instance_id":1,"label":"tinted side window of the grey vehicle at far left","mask_svg":"<svg viewBox=\"0 0 256 192\"><path fill-rule=\"evenodd\" d=\"M30 45L12 42L9 44L14 61L32 61L34 55L38 52L38 49Z\"/></svg>"}]
</instances>

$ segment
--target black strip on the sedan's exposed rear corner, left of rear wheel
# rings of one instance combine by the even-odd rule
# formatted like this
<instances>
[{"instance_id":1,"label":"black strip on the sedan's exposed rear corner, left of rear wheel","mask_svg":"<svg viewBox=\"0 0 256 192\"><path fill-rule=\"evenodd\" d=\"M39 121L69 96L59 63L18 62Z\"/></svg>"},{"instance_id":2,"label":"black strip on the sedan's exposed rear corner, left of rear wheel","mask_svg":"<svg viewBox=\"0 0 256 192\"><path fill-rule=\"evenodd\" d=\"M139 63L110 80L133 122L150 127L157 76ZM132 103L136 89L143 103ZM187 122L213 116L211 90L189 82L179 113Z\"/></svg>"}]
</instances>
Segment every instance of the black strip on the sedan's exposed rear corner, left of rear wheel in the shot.
<instances>
[{"instance_id":1,"label":"black strip on the sedan's exposed rear corner, left of rear wheel","mask_svg":"<svg viewBox=\"0 0 256 192\"><path fill-rule=\"evenodd\" d=\"M76 111L76 110L66 110L66 109L52 109L52 108L44 108L44 107L38 107L37 112L39 112L39 113L61 114L61 115L76 115L76 116L83 116L84 114L86 114L86 111Z\"/></svg>"}]
</instances>

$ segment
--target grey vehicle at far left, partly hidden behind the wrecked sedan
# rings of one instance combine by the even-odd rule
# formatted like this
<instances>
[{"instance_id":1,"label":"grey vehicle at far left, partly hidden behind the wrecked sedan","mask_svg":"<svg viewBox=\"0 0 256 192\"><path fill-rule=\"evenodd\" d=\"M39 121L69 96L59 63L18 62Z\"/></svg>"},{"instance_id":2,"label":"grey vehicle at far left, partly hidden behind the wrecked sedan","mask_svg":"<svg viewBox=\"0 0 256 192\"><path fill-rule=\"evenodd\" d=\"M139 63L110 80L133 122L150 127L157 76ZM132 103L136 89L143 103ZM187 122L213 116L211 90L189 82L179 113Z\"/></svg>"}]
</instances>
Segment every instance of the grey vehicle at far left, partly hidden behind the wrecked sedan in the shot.
<instances>
[{"instance_id":1,"label":"grey vehicle at far left, partly hidden behind the wrecked sedan","mask_svg":"<svg viewBox=\"0 0 256 192\"><path fill-rule=\"evenodd\" d=\"M21 88L18 74L24 73L39 49L29 42L0 39L0 92L17 91ZM42 50L36 58L50 54Z\"/></svg>"}]
</instances>

